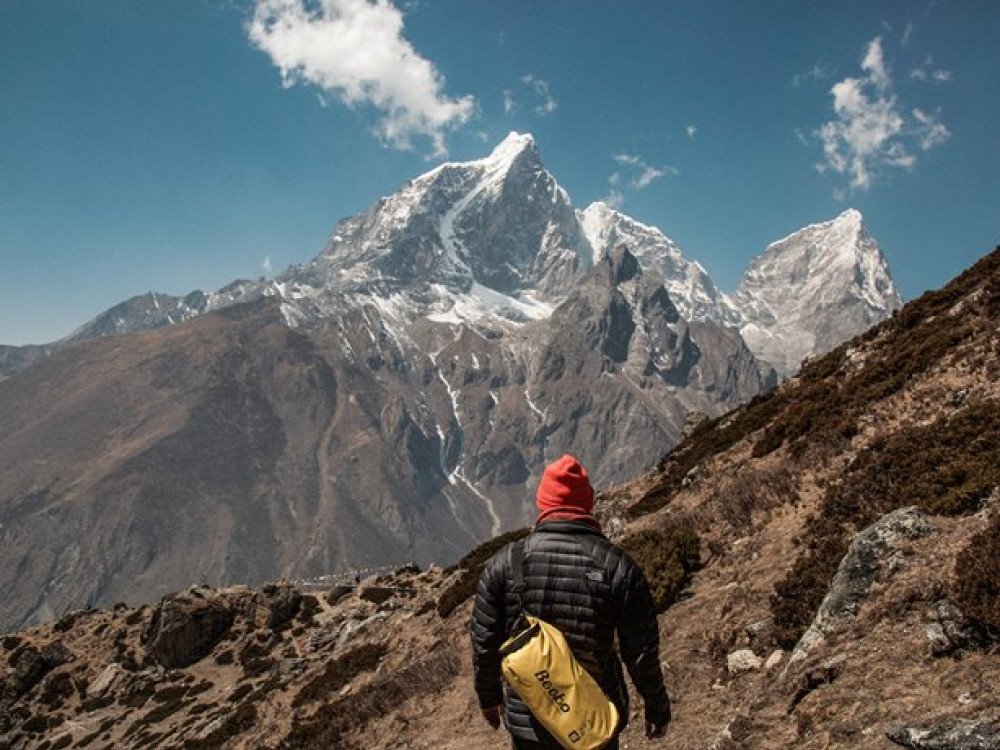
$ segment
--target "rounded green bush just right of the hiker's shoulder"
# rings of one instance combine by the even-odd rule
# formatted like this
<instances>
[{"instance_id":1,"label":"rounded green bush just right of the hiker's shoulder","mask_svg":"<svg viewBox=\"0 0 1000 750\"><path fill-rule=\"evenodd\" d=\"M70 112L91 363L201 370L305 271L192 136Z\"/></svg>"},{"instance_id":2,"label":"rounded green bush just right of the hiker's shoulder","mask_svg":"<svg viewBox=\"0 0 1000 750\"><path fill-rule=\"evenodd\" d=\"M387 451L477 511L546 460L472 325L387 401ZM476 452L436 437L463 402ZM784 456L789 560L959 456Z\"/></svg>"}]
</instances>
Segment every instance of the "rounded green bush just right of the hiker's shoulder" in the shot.
<instances>
[{"instance_id":1,"label":"rounded green bush just right of the hiker's shoulder","mask_svg":"<svg viewBox=\"0 0 1000 750\"><path fill-rule=\"evenodd\" d=\"M621 546L646 574L657 612L677 601L701 557L698 535L684 525L640 531L625 537Z\"/></svg>"}]
</instances>

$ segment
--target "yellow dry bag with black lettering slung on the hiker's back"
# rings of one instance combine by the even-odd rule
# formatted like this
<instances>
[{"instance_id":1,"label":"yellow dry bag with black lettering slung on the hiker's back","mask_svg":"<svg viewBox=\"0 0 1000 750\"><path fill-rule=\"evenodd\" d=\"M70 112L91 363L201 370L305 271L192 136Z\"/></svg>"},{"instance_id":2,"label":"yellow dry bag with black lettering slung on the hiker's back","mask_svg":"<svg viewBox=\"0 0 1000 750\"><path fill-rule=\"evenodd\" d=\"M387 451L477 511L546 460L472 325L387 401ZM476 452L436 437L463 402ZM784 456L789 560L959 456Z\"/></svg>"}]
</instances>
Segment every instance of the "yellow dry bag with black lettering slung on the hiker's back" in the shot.
<instances>
[{"instance_id":1,"label":"yellow dry bag with black lettering slung on the hiker's back","mask_svg":"<svg viewBox=\"0 0 1000 750\"><path fill-rule=\"evenodd\" d=\"M524 588L522 554L521 549L513 551L518 596ZM604 747L618 728L617 707L577 661L558 628L524 612L523 604L522 614L527 627L500 647L507 684L563 747Z\"/></svg>"}]
</instances>

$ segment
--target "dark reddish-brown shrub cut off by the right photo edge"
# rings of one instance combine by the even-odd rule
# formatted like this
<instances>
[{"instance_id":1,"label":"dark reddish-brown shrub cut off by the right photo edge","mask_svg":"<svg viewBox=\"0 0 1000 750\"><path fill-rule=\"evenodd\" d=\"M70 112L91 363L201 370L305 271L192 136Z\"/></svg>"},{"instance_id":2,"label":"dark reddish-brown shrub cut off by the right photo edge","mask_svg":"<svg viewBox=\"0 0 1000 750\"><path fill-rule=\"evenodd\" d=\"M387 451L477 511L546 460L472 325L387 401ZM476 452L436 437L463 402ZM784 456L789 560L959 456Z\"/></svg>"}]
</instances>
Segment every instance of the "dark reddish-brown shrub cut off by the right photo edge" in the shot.
<instances>
[{"instance_id":1,"label":"dark reddish-brown shrub cut off by the right photo edge","mask_svg":"<svg viewBox=\"0 0 1000 750\"><path fill-rule=\"evenodd\" d=\"M969 540L955 561L952 596L962 613L1000 638L1000 512Z\"/></svg>"}]
</instances>

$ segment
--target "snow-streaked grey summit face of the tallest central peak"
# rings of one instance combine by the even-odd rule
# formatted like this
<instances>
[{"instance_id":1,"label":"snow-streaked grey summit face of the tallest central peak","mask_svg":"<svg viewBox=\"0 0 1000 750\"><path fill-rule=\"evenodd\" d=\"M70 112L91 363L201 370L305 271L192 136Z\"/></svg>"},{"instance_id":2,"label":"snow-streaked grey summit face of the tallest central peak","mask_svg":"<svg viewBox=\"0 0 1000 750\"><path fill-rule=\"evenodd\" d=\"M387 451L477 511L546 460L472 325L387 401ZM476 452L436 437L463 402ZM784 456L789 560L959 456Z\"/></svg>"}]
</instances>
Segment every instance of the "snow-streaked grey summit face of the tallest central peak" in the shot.
<instances>
[{"instance_id":1,"label":"snow-streaked grey summit face of the tallest central peak","mask_svg":"<svg viewBox=\"0 0 1000 750\"><path fill-rule=\"evenodd\" d=\"M447 304L474 285L557 298L590 257L569 197L534 141L512 134L489 157L438 167L341 222L312 264L280 281L311 288L308 297L405 289L425 305Z\"/></svg>"}]
</instances>

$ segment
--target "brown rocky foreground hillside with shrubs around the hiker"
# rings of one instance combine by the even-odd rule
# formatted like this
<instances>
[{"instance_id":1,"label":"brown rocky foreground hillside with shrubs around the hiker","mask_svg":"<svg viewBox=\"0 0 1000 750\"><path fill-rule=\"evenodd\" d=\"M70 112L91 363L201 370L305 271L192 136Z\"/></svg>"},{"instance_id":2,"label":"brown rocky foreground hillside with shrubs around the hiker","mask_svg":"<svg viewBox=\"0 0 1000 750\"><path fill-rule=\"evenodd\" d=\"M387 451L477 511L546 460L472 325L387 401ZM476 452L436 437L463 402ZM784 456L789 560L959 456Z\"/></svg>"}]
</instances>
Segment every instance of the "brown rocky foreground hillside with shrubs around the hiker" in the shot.
<instances>
[{"instance_id":1,"label":"brown rocky foreground hillside with shrubs around the hiker","mask_svg":"<svg viewBox=\"0 0 1000 750\"><path fill-rule=\"evenodd\" d=\"M600 499L667 607L674 721L623 747L1000 747L998 323L1000 250ZM484 558L7 636L0 746L504 747L471 683Z\"/></svg>"}]
</instances>

